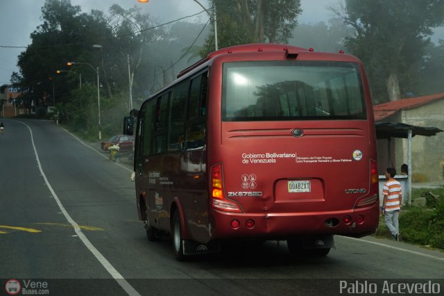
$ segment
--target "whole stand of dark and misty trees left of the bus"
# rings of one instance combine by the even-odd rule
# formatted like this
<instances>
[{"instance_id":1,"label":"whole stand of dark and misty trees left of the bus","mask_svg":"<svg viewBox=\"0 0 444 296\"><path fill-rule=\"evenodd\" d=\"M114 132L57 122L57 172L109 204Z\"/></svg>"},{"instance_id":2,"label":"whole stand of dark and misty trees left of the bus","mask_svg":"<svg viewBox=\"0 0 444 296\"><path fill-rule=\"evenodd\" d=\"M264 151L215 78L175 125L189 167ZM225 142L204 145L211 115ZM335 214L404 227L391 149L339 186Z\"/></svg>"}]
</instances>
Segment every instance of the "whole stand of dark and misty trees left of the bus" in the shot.
<instances>
[{"instance_id":1,"label":"whole stand of dark and misty trees left of the bus","mask_svg":"<svg viewBox=\"0 0 444 296\"><path fill-rule=\"evenodd\" d=\"M161 75L169 82L176 76L176 69L187 67L187 51L181 53L180 49L200 45L202 41L196 39L205 35L201 24L160 27L137 8L126 10L114 5L109 12L105 15L92 10L87 14L69 0L46 0L42 24L18 58L19 73L12 75L12 82L27 90L20 98L24 104L46 107L55 101L62 124L89 133L94 139L99 130L96 67L100 74L102 131L110 135L121 130L121 117L128 113L128 84L133 88L131 93L136 94L133 101L141 103L148 90L164 86ZM77 64L68 68L67 61ZM58 76L58 69L81 74L82 88L78 88L77 76Z\"/></svg>"}]
</instances>

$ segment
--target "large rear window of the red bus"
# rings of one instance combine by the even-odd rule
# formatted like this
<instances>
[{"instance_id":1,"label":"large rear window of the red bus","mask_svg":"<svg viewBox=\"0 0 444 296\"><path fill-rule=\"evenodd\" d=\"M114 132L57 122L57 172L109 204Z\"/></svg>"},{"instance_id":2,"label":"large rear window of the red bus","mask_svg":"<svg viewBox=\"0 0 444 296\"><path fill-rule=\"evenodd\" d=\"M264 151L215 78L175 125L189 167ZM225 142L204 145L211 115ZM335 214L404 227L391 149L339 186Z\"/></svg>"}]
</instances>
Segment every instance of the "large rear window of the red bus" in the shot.
<instances>
[{"instance_id":1,"label":"large rear window of the red bus","mask_svg":"<svg viewBox=\"0 0 444 296\"><path fill-rule=\"evenodd\" d=\"M222 120L364 120L359 66L260 61L223 65Z\"/></svg>"}]
</instances>

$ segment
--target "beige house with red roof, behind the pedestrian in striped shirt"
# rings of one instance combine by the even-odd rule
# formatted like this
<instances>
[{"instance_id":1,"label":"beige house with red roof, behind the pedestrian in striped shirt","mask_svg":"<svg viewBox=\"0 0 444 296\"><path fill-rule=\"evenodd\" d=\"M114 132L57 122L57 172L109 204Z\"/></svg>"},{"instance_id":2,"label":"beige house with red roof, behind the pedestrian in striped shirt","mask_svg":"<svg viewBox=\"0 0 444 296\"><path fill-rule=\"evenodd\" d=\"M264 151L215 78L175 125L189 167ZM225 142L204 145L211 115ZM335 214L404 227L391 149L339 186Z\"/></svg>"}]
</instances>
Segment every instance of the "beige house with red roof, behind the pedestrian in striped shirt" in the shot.
<instances>
[{"instance_id":1,"label":"beige house with red roof, behind the pedestrian in striped shirt","mask_svg":"<svg viewBox=\"0 0 444 296\"><path fill-rule=\"evenodd\" d=\"M444 130L444 93L400 99L373 106L375 122L402 122ZM391 138L391 161L400 172L407 163L406 139ZM388 163L388 140L377 141L378 170L384 174ZM416 135L411 143L413 182L443 182L444 133L431 137Z\"/></svg>"}]
</instances>

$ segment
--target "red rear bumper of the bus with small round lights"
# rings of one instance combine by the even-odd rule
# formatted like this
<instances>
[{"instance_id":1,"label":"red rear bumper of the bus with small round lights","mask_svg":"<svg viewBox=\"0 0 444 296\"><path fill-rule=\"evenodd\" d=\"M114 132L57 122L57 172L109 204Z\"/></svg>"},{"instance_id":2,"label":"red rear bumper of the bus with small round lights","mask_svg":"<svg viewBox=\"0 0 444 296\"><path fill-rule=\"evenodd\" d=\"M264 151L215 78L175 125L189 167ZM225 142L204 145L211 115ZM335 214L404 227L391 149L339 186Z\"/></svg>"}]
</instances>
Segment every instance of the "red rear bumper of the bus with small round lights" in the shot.
<instances>
[{"instance_id":1,"label":"red rear bumper of the bus with small round lights","mask_svg":"<svg viewBox=\"0 0 444 296\"><path fill-rule=\"evenodd\" d=\"M379 205L349 211L311 213L252 214L213 211L211 224L211 239L285 240L317 234L362 237L376 231L379 224Z\"/></svg>"}]
</instances>

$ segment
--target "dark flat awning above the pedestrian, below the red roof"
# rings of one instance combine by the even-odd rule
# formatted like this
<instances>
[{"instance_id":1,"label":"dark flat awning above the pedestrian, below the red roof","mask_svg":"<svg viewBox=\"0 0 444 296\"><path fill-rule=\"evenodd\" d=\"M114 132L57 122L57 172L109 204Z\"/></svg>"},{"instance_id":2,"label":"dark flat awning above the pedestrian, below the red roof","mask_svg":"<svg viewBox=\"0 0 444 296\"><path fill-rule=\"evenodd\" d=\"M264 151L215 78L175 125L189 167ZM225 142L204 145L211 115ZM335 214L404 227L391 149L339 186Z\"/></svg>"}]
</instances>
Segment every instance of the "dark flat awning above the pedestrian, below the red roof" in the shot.
<instances>
[{"instance_id":1,"label":"dark flat awning above the pedestrian, below the red roof","mask_svg":"<svg viewBox=\"0 0 444 296\"><path fill-rule=\"evenodd\" d=\"M388 139L388 138L409 138L409 131L411 131L411 136L415 135L425 135L427 137L431 135L436 135L443 130L437 127L422 127L413 126L410 124L394 123L394 122L377 122L376 126L376 138L377 139Z\"/></svg>"}]
</instances>

